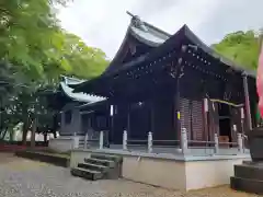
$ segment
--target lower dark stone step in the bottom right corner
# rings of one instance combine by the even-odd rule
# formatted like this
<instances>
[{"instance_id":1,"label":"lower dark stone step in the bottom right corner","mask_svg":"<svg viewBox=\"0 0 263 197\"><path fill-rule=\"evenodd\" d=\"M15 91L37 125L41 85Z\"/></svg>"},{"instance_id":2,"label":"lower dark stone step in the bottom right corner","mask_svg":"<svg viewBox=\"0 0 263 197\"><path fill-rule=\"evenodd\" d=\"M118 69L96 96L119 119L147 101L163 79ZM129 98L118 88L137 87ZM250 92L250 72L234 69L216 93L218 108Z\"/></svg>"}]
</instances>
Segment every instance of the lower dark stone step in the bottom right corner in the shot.
<instances>
[{"instance_id":1,"label":"lower dark stone step in the bottom right corner","mask_svg":"<svg viewBox=\"0 0 263 197\"><path fill-rule=\"evenodd\" d=\"M235 190L263 195L263 181L232 176L230 177L230 186Z\"/></svg>"}]
</instances>

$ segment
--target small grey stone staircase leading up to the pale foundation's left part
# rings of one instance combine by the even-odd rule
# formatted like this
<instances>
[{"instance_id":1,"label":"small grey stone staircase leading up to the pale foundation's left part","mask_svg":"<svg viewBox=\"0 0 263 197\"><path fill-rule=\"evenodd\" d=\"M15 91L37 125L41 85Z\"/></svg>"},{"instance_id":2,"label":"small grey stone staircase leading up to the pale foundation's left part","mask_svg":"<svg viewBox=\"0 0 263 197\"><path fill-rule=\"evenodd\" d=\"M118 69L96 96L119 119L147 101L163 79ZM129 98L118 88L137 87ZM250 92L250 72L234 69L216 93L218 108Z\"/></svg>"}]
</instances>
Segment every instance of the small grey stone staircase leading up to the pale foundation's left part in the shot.
<instances>
[{"instance_id":1,"label":"small grey stone staircase leading up to the pale foundation's left part","mask_svg":"<svg viewBox=\"0 0 263 197\"><path fill-rule=\"evenodd\" d=\"M122 176L122 157L92 153L82 163L78 163L77 167L71 169L71 174L92 181L116 179Z\"/></svg>"}]
</instances>

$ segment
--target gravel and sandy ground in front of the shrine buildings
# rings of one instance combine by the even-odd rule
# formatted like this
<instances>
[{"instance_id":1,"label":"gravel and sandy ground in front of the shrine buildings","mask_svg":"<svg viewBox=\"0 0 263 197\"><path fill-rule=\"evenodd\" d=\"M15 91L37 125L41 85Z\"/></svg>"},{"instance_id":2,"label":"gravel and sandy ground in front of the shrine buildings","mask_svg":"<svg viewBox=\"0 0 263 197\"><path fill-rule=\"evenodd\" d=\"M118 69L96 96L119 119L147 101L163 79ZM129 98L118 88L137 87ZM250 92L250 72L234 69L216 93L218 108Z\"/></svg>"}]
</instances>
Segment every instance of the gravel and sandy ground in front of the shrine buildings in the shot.
<instances>
[{"instance_id":1,"label":"gravel and sandy ground in front of the shrine buildings","mask_svg":"<svg viewBox=\"0 0 263 197\"><path fill-rule=\"evenodd\" d=\"M89 182L68 169L0 154L0 197L252 197L228 186L187 194L124 179Z\"/></svg>"}]
</instances>

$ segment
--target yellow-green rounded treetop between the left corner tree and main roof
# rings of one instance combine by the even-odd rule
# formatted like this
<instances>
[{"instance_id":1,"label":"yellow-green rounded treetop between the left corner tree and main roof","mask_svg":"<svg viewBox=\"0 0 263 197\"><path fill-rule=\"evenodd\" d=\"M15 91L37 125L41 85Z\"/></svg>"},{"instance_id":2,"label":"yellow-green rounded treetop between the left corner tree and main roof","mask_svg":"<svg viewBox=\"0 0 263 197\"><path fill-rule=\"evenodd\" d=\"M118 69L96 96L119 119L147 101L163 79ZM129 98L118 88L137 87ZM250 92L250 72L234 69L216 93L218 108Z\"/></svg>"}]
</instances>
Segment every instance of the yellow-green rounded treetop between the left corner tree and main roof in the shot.
<instances>
[{"instance_id":1,"label":"yellow-green rounded treetop between the left corner tree and main roof","mask_svg":"<svg viewBox=\"0 0 263 197\"><path fill-rule=\"evenodd\" d=\"M60 57L60 62L54 61L53 63L62 63L64 69L60 67L46 67L45 73L49 78L54 79L62 73L90 79L101 74L108 65L106 55L101 49L87 46L77 35L61 31L56 34L56 37L59 37L59 42L61 42L59 44L60 49L56 51L57 56Z\"/></svg>"}]
</instances>

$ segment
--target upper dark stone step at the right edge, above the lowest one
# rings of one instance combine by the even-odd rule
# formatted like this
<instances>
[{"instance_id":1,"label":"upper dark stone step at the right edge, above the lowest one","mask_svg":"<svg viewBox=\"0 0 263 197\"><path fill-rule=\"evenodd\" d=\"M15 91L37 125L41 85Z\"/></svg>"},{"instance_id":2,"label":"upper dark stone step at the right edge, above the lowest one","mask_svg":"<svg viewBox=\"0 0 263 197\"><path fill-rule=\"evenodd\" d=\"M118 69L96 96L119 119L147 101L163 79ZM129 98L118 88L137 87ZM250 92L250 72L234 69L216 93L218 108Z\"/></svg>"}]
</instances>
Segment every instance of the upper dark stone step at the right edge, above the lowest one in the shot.
<instances>
[{"instance_id":1,"label":"upper dark stone step at the right edge, above the lowest one","mask_svg":"<svg viewBox=\"0 0 263 197\"><path fill-rule=\"evenodd\" d=\"M241 178L263 181L263 165L235 165L235 176Z\"/></svg>"}]
</instances>

